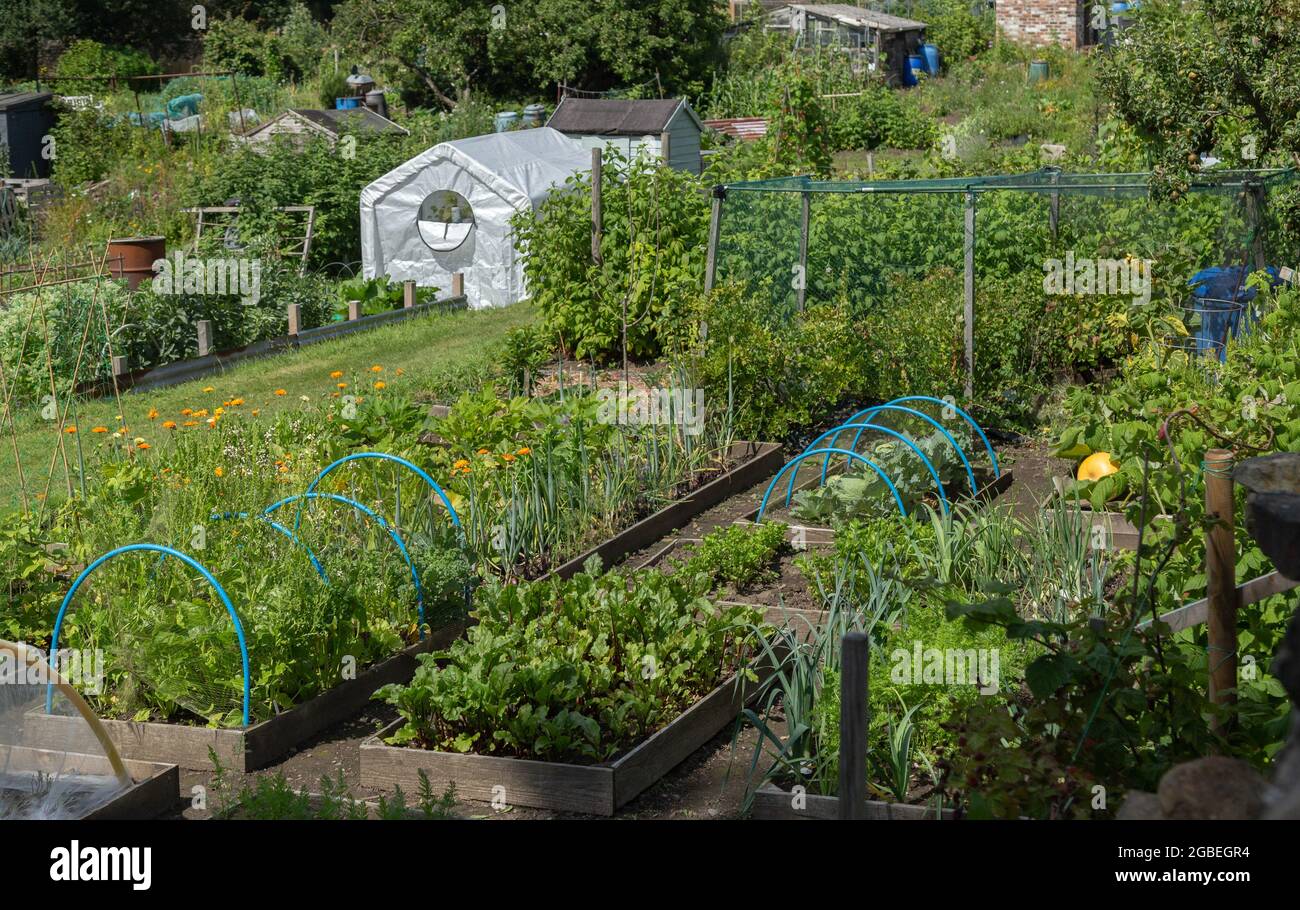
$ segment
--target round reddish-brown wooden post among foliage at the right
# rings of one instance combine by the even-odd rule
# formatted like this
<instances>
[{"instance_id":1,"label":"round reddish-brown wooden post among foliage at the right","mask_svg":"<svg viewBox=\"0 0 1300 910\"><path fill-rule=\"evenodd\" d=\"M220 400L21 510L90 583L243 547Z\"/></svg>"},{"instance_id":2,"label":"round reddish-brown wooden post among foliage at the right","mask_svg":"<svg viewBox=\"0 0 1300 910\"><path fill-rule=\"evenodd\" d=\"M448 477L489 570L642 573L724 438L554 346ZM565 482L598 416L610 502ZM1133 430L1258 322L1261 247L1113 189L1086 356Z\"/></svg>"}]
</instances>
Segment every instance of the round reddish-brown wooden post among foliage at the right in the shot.
<instances>
[{"instance_id":1,"label":"round reddish-brown wooden post among foliage at the right","mask_svg":"<svg viewBox=\"0 0 1300 910\"><path fill-rule=\"evenodd\" d=\"M1209 696L1216 705L1236 703L1236 541L1232 534L1232 452L1205 452L1205 517L1217 520L1205 536L1206 632L1209 636ZM1223 732L1231 720L1210 728Z\"/></svg>"}]
</instances>

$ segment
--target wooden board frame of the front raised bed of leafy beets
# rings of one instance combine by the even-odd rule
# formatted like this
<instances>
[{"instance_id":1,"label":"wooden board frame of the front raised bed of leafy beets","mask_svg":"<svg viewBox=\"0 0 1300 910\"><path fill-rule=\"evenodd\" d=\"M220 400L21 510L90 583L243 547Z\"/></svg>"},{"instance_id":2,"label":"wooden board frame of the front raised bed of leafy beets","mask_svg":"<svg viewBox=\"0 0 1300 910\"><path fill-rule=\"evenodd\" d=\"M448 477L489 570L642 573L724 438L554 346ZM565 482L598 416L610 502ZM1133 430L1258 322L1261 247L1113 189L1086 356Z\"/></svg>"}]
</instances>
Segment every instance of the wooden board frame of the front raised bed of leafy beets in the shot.
<instances>
[{"instance_id":1,"label":"wooden board frame of the front raised bed of leafy beets","mask_svg":"<svg viewBox=\"0 0 1300 910\"><path fill-rule=\"evenodd\" d=\"M614 815L734 720L766 679L760 672L758 682L741 688L732 676L667 727L601 764L390 746L385 737L404 723L396 720L361 742L361 786L391 790L396 785L413 793L422 770L436 792L454 783L456 794L469 800L504 798L512 806Z\"/></svg>"}]
</instances>

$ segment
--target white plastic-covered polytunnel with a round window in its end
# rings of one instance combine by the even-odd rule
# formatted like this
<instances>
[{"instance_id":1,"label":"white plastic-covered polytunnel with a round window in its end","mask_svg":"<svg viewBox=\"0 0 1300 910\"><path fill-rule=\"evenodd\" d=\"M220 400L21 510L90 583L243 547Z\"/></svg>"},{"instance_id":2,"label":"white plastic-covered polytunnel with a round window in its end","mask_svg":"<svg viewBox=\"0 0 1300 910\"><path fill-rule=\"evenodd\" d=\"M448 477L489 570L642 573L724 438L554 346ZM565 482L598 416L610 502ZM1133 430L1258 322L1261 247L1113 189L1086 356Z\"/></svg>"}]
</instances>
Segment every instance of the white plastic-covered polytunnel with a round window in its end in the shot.
<instances>
[{"instance_id":1,"label":"white plastic-covered polytunnel with a round window in its end","mask_svg":"<svg viewBox=\"0 0 1300 910\"><path fill-rule=\"evenodd\" d=\"M420 152L361 190L363 274L447 291L460 272L474 309L523 300L528 289L511 218L590 169L590 151L547 127Z\"/></svg>"}]
</instances>

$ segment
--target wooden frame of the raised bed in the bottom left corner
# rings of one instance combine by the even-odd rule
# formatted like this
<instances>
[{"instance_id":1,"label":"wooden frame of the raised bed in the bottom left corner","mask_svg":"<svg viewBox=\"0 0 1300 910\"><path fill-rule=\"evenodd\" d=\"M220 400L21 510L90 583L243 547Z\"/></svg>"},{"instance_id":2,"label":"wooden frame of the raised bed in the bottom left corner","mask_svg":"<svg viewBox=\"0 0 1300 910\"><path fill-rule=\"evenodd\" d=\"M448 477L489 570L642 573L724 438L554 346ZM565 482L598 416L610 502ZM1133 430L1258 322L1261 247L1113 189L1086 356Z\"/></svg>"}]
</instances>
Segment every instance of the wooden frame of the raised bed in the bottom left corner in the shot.
<instances>
[{"instance_id":1,"label":"wooden frame of the raised bed in the bottom left corner","mask_svg":"<svg viewBox=\"0 0 1300 910\"><path fill-rule=\"evenodd\" d=\"M79 720L79 719L78 719ZM81 722L84 723L84 722ZM6 774L39 774L43 771L66 775L112 776L113 771L105 755L84 755L79 753L34 749L30 746L5 746L4 767ZM135 762L124 759L126 772L134 781L131 786L117 793L110 800L92 805L82 819L153 819L174 807L181 790L181 772L176 764L155 762Z\"/></svg>"}]
</instances>

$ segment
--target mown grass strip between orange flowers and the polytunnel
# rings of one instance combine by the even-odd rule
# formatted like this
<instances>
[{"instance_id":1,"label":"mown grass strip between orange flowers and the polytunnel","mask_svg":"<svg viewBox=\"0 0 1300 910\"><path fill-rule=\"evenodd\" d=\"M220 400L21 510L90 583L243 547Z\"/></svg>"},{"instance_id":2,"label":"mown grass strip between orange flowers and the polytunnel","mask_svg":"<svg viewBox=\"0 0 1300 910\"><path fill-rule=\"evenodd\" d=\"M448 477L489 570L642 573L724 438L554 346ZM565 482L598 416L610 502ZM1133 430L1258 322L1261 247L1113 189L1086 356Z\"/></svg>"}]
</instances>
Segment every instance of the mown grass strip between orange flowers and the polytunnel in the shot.
<instances>
[{"instance_id":1,"label":"mown grass strip between orange flowers and the polytunnel","mask_svg":"<svg viewBox=\"0 0 1300 910\"><path fill-rule=\"evenodd\" d=\"M528 324L533 313L530 304L521 303L503 309L417 316L299 351L248 360L225 373L168 389L124 393L121 404L112 395L82 399L73 404L68 416L75 433L60 434L58 421L43 419L38 410L20 411L13 432L5 432L6 438L0 441L4 450L0 455L0 465L4 465L0 469L0 508L21 504L16 443L29 497L48 494L58 499L66 494L64 458L75 481L77 447L99 445L100 434L95 428L112 433L126 426L130 436L153 441L164 433L204 429L203 419L182 415L183 408L207 410L211 415L234 399L242 399L242 404L230 404L228 411L238 410L246 419L264 419L280 411L309 407L335 391L376 394L374 384L380 381L385 391L417 395L450 370L481 365L491 355L491 347L508 330ZM382 367L382 370L372 370L373 367ZM334 372L342 376L332 377ZM341 382L347 387L341 390ZM277 394L281 390L283 394ZM157 413L151 419L148 415L153 411ZM162 422L168 420L176 421L177 428L164 429ZM185 426L186 421L195 420L196 426Z\"/></svg>"}]
</instances>

